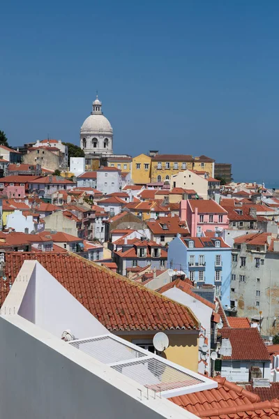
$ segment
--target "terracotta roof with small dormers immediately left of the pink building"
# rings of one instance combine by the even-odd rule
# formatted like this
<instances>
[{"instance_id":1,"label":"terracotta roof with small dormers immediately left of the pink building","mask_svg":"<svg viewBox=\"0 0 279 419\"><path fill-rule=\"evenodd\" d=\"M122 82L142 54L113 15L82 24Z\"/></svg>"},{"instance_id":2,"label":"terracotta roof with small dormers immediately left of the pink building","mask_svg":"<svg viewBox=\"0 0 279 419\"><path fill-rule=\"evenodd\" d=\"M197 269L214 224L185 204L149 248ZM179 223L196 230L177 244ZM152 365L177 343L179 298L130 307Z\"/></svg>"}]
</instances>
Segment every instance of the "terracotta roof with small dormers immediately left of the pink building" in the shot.
<instances>
[{"instance_id":1,"label":"terracotta roof with small dormers immediately left of the pink building","mask_svg":"<svg viewBox=\"0 0 279 419\"><path fill-rule=\"evenodd\" d=\"M156 220L147 221L147 226L153 234L160 235L189 235L186 222L180 221L179 216L163 216ZM163 228L167 226L167 228Z\"/></svg>"}]
</instances>

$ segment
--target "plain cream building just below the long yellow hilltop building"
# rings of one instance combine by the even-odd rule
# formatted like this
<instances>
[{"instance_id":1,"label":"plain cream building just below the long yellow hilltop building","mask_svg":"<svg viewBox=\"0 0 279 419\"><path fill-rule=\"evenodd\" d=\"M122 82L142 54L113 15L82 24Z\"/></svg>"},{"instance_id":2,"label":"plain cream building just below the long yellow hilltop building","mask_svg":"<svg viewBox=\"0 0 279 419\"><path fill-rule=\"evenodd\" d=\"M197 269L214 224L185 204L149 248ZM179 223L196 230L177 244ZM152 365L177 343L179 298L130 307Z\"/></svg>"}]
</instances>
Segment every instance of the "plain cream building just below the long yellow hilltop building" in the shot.
<instances>
[{"instance_id":1,"label":"plain cream building just below the long yellow hilltop building","mask_svg":"<svg viewBox=\"0 0 279 419\"><path fill-rule=\"evenodd\" d=\"M194 189L200 198L208 199L208 180L193 170L183 170L171 177L171 188Z\"/></svg>"}]
</instances>

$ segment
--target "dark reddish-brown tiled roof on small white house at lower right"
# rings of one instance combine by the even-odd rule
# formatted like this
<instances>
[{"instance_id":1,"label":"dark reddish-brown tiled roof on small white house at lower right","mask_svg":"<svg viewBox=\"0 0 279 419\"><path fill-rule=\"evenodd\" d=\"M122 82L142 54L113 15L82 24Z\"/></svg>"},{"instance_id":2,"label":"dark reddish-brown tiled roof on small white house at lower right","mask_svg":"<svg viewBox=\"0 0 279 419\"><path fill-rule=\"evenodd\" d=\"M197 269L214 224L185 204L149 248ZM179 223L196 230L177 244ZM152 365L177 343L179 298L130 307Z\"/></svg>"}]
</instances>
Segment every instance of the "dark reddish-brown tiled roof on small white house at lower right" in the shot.
<instances>
[{"instance_id":1,"label":"dark reddish-brown tiled roof on small white house at lower right","mask_svg":"<svg viewBox=\"0 0 279 419\"><path fill-rule=\"evenodd\" d=\"M223 360L269 361L269 352L257 328L223 328L220 333L232 345L232 356L223 356Z\"/></svg>"}]
</instances>

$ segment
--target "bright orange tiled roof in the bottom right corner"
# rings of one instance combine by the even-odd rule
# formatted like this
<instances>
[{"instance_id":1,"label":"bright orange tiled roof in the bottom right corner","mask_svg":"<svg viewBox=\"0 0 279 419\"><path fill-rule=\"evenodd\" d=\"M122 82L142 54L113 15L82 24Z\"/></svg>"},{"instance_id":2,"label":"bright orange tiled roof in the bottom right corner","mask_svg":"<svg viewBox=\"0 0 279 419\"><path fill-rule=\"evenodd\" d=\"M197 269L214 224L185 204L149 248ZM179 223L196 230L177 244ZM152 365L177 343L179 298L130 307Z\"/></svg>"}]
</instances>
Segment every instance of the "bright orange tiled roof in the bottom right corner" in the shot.
<instances>
[{"instance_id":1,"label":"bright orange tiled roof in the bottom right corner","mask_svg":"<svg viewBox=\"0 0 279 419\"><path fill-rule=\"evenodd\" d=\"M214 378L218 388L172 397L169 400L204 419L278 419L279 401L261 402L258 395L225 378Z\"/></svg>"}]
</instances>

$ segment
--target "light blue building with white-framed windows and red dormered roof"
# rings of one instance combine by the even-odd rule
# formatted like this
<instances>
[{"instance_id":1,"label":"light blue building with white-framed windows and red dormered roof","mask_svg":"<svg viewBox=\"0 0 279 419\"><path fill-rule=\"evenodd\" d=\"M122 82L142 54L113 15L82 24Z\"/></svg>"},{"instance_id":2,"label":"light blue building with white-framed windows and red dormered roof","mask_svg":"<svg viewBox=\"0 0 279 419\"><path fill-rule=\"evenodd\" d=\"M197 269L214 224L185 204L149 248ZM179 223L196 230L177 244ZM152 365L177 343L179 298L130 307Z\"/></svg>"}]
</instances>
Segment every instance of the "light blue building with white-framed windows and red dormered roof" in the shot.
<instances>
[{"instance_id":1,"label":"light blue building with white-framed windows and red dormered roof","mask_svg":"<svg viewBox=\"0 0 279 419\"><path fill-rule=\"evenodd\" d=\"M197 287L216 286L223 307L230 307L232 248L221 237L177 237L169 242L167 267L183 270Z\"/></svg>"}]
</instances>

